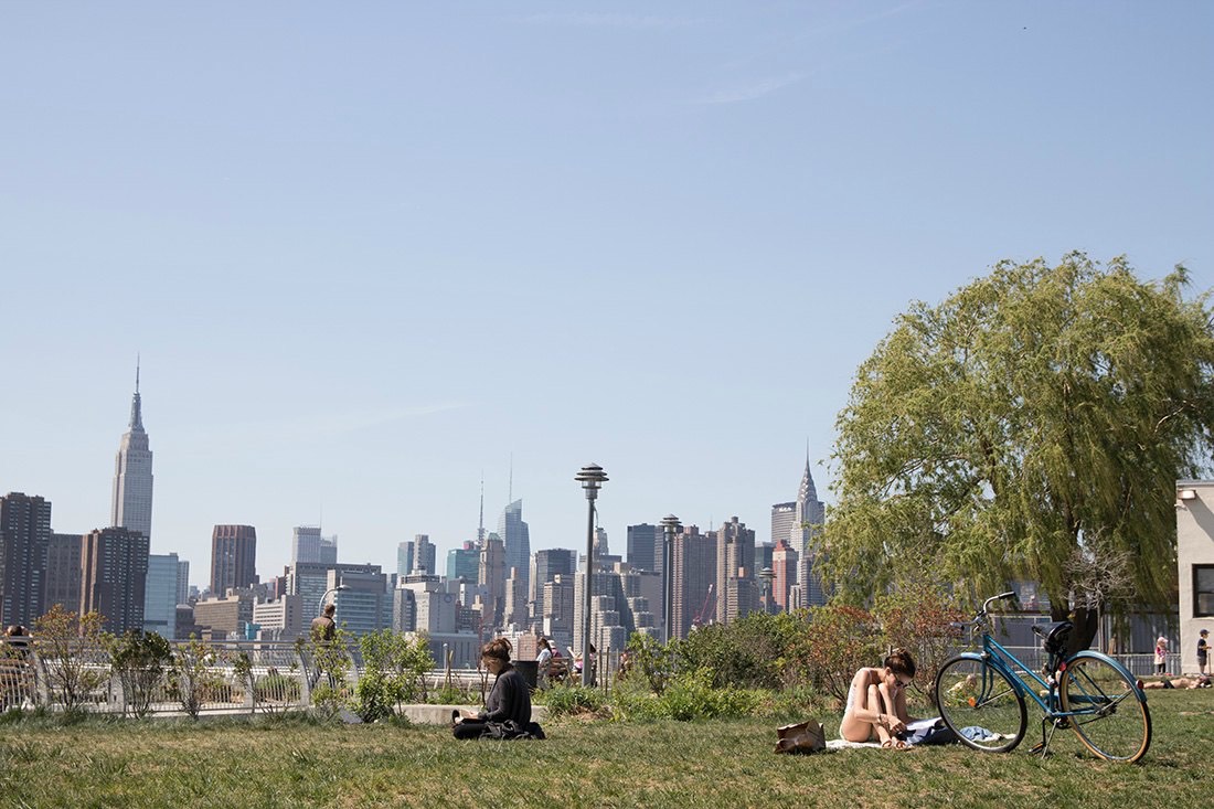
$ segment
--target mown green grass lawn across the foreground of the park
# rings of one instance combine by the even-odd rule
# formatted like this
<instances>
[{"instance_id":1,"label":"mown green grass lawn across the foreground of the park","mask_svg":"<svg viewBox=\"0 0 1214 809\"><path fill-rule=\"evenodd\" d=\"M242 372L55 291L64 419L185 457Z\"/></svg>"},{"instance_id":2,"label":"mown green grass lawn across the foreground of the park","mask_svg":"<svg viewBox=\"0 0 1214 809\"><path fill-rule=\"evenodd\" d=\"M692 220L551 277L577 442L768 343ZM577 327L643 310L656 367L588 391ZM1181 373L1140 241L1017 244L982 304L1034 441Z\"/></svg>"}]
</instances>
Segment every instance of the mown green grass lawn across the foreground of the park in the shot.
<instances>
[{"instance_id":1,"label":"mown green grass lawn across the foreground of the park","mask_svg":"<svg viewBox=\"0 0 1214 809\"><path fill-rule=\"evenodd\" d=\"M1201 807L1214 803L1214 689L1152 691L1138 765L1070 731L1045 760L961 747L776 756L775 723L569 719L541 742L306 720L0 724L2 807ZM836 717L824 719L835 735Z\"/></svg>"}]
</instances>

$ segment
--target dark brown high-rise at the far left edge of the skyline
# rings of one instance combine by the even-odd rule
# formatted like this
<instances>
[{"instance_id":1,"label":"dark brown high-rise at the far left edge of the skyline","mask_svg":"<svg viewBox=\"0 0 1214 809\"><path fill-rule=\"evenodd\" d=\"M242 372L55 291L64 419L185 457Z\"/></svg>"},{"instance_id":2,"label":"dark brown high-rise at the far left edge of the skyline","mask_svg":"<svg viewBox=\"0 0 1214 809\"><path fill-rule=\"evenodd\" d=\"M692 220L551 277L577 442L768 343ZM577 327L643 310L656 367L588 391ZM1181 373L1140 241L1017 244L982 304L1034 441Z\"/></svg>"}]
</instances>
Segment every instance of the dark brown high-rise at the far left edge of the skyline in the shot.
<instances>
[{"instance_id":1,"label":"dark brown high-rise at the far left edge of the skyline","mask_svg":"<svg viewBox=\"0 0 1214 809\"><path fill-rule=\"evenodd\" d=\"M51 502L10 492L0 497L0 626L33 627L46 599Z\"/></svg>"}]
</instances>

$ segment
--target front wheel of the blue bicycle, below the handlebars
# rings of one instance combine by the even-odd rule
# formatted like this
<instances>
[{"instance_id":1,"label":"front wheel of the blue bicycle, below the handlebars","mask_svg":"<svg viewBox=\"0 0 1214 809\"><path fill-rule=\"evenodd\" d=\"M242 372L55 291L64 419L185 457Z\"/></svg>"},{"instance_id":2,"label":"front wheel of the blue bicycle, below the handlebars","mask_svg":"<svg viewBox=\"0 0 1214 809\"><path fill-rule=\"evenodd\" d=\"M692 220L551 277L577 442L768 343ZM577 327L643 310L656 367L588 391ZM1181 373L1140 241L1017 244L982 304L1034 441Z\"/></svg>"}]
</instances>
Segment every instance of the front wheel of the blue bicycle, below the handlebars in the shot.
<instances>
[{"instance_id":1,"label":"front wheel of the blue bicycle, below the handlebars","mask_svg":"<svg viewBox=\"0 0 1214 809\"><path fill-rule=\"evenodd\" d=\"M964 745L1004 753L1025 737L1028 711L1011 680L986 661L954 657L936 675L936 707Z\"/></svg>"}]
</instances>

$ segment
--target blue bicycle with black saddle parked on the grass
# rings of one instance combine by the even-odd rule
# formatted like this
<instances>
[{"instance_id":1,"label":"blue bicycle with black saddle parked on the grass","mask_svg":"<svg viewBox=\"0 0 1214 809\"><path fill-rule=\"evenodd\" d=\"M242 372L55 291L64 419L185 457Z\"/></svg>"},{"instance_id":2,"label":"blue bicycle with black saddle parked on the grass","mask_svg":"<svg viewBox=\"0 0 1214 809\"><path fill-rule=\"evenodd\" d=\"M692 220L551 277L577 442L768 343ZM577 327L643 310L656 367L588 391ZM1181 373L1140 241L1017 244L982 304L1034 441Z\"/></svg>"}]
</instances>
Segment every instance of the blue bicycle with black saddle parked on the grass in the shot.
<instances>
[{"instance_id":1,"label":"blue bicycle with black saddle parked on the grass","mask_svg":"<svg viewBox=\"0 0 1214 809\"><path fill-rule=\"evenodd\" d=\"M987 753L1014 749L1025 737L1025 698L1045 712L1042 743L1045 756L1056 729L1071 729L1093 753L1110 762L1136 762L1151 746L1151 712L1146 695L1121 663L1097 651L1066 656L1071 622L1034 626L1049 662L1042 674L991 638L988 611L993 601L1015 598L1002 593L986 600L971 624L981 633L982 651L963 652L947 661L936 677L936 706L963 743Z\"/></svg>"}]
</instances>

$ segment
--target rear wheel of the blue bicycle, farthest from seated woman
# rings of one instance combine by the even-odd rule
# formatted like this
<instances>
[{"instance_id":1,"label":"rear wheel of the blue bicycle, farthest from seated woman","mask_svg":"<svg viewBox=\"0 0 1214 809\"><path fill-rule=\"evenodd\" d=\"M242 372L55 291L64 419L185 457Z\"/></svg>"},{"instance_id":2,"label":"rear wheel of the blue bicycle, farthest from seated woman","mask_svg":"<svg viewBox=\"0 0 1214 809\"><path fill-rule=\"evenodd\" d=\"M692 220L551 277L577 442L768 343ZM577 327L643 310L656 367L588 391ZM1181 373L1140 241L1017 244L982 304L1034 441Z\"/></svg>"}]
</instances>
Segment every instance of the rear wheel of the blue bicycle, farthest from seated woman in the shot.
<instances>
[{"instance_id":1,"label":"rear wheel of the blue bicycle, farthest from seated woman","mask_svg":"<svg viewBox=\"0 0 1214 809\"><path fill-rule=\"evenodd\" d=\"M1151 746L1146 697L1121 666L1082 651L1066 662L1059 680L1062 711L1079 740L1110 762L1136 762Z\"/></svg>"}]
</instances>

